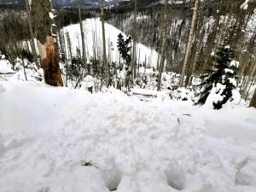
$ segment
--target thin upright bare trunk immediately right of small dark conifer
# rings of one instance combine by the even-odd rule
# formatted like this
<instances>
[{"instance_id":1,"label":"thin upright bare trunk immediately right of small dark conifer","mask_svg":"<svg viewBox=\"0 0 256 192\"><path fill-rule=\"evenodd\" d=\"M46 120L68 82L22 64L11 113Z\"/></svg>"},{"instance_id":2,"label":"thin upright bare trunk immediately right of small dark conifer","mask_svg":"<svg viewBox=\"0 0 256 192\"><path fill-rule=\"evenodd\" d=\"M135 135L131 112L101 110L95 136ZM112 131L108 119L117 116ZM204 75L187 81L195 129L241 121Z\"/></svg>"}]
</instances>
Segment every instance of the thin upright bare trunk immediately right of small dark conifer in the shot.
<instances>
[{"instance_id":1,"label":"thin upright bare trunk immediately right of small dark conifer","mask_svg":"<svg viewBox=\"0 0 256 192\"><path fill-rule=\"evenodd\" d=\"M134 79L136 78L136 65L137 65L137 0L134 0L134 17L133 17L133 49L132 49L132 84L134 84Z\"/></svg>"}]
</instances>

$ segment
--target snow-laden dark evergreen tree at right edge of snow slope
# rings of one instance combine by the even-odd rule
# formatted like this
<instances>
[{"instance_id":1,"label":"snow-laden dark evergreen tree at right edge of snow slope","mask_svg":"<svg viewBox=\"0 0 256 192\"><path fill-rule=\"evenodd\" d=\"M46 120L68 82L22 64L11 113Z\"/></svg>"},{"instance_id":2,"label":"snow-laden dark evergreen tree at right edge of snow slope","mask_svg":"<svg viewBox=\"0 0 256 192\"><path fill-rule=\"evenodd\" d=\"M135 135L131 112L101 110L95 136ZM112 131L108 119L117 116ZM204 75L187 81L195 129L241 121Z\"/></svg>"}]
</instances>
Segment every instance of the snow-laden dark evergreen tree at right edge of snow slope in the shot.
<instances>
[{"instance_id":1,"label":"snow-laden dark evergreen tree at right edge of snow slope","mask_svg":"<svg viewBox=\"0 0 256 192\"><path fill-rule=\"evenodd\" d=\"M198 94L196 104L205 104L208 96L212 96L212 105L214 109L222 108L224 103L232 101L233 90L236 90L237 67L238 62L233 61L235 53L230 46L223 45L216 55L212 56L214 69L208 70L208 74L202 78L202 89Z\"/></svg>"}]
</instances>

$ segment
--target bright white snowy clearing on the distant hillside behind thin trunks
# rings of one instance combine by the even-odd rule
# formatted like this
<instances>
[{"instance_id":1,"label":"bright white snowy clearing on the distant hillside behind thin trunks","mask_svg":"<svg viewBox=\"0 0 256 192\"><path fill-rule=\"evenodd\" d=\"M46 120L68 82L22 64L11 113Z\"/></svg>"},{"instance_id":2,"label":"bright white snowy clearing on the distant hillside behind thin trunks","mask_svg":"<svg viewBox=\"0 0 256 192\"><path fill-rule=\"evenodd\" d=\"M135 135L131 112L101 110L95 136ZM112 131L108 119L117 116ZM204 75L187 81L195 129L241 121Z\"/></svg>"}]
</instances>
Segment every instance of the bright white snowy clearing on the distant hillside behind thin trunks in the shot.
<instances>
[{"instance_id":1,"label":"bright white snowy clearing on the distant hillside behind thin trunks","mask_svg":"<svg viewBox=\"0 0 256 192\"><path fill-rule=\"evenodd\" d=\"M90 59L90 57L93 57L93 36L96 35L97 38L97 44L96 47L102 47L102 22L99 19L87 19L83 21L85 38L86 38L86 52L88 53L87 59ZM64 27L64 32L69 32L70 38L71 38L71 44L73 53L76 53L76 47L79 47L79 44L81 44L81 35L80 35L80 26L79 24L74 24L71 26ZM114 26L109 25L108 23L105 23L105 35L106 35L106 49L107 49L107 55L110 53L110 56L108 58L111 58L112 61L116 61L119 63L119 50L117 48L117 39L118 35L121 31L117 29ZM124 37L126 38L125 33L121 32ZM67 39L66 39L67 42ZM113 43L113 50L108 50L108 44ZM66 44L67 46L67 44ZM139 56L140 54L140 56ZM102 53L99 53L99 55L102 55ZM143 44L137 44L137 58L140 58L140 62L143 63L146 61L147 63L151 63L152 67L156 67L157 65L157 59L158 59L158 53L153 50L149 49L148 47L144 46Z\"/></svg>"}]
</instances>

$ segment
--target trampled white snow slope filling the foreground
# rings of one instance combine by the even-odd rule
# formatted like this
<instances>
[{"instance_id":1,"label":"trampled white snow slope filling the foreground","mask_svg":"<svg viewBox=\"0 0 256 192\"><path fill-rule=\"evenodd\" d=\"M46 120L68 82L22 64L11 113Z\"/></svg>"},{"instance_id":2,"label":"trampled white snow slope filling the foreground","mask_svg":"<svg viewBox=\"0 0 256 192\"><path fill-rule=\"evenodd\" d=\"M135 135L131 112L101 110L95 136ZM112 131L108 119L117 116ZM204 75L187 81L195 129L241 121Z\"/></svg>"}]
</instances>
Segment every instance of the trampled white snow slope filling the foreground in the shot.
<instances>
[{"instance_id":1,"label":"trampled white snow slope filling the foreground","mask_svg":"<svg viewBox=\"0 0 256 192\"><path fill-rule=\"evenodd\" d=\"M0 81L0 191L255 192L255 108L192 104Z\"/></svg>"}]
</instances>

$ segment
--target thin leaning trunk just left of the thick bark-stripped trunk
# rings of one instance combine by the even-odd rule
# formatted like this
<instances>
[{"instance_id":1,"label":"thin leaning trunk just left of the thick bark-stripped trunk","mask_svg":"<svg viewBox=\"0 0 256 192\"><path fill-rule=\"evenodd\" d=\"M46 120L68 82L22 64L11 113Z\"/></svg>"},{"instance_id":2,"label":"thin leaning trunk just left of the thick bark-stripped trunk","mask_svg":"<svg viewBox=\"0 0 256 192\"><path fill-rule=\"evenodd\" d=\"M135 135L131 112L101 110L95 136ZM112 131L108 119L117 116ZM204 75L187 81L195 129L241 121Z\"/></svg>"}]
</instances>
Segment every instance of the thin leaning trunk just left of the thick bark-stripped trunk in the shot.
<instances>
[{"instance_id":1,"label":"thin leaning trunk just left of the thick bark-stripped trunk","mask_svg":"<svg viewBox=\"0 0 256 192\"><path fill-rule=\"evenodd\" d=\"M28 0L25 0L25 3L26 3L26 15L27 15L29 32L30 32L30 36L31 36L32 54L34 56L34 61L36 63L36 66L39 68L40 65L38 63L38 53L37 53L36 45L35 45L35 36L34 36L34 32L32 31L32 22L31 22L30 8L29 8L29 4L28 4L27 1Z\"/></svg>"}]
</instances>

